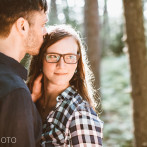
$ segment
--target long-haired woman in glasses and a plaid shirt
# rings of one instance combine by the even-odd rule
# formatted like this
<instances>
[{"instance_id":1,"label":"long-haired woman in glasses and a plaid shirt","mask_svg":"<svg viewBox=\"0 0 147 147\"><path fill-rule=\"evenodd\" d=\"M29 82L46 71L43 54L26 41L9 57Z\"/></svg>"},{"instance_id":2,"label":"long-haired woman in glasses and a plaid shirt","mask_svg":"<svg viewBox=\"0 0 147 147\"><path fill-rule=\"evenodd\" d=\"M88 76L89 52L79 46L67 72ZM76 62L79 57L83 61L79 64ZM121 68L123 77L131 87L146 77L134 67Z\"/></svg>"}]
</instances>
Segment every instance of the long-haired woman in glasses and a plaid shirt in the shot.
<instances>
[{"instance_id":1,"label":"long-haired woman in glasses and a plaid shirt","mask_svg":"<svg viewBox=\"0 0 147 147\"><path fill-rule=\"evenodd\" d=\"M38 94L36 78L42 79ZM49 27L39 55L31 61L28 80L43 121L43 147L102 146L103 123L93 110L92 78L79 34L67 25Z\"/></svg>"}]
</instances>

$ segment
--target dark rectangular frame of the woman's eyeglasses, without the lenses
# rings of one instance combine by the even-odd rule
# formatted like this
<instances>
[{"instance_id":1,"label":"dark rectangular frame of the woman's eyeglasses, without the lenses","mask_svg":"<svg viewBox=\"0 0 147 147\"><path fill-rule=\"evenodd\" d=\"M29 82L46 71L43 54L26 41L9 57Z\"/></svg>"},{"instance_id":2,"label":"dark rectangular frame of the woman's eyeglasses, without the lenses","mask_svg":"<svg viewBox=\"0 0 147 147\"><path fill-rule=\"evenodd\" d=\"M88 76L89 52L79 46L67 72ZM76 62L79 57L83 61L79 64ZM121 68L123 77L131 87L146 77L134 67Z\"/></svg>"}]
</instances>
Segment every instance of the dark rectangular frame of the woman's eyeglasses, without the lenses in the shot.
<instances>
[{"instance_id":1,"label":"dark rectangular frame of the woman's eyeglasses, without the lenses","mask_svg":"<svg viewBox=\"0 0 147 147\"><path fill-rule=\"evenodd\" d=\"M57 62L48 62L47 61L47 55L48 54L57 54L57 55L59 55L59 60L57 61ZM66 56L66 55L75 55L76 57L77 57L77 61L75 62L75 63L67 63L66 61L65 61L65 59L64 59L64 56ZM64 60L64 62L66 63L66 64L76 64L77 62L78 62L78 60L79 60L79 58L80 58L80 53L78 53L78 54L72 54L72 53L69 53L69 54L59 54L59 53L45 53L44 54L44 56L45 56L45 60L46 60L46 62L47 63L58 63L59 61L60 61L60 59L61 59L61 57L63 57L63 60Z\"/></svg>"}]
</instances>

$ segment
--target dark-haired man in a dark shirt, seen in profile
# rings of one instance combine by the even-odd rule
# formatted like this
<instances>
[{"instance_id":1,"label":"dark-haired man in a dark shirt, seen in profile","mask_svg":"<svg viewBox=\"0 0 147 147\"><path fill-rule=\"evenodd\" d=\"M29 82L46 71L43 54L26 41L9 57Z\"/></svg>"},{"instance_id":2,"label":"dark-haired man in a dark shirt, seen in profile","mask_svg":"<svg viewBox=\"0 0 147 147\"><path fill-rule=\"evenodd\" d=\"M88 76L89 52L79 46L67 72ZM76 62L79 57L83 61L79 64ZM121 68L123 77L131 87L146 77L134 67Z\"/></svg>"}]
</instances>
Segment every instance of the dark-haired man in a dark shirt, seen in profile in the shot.
<instances>
[{"instance_id":1,"label":"dark-haired man in a dark shirt, seen in profile","mask_svg":"<svg viewBox=\"0 0 147 147\"><path fill-rule=\"evenodd\" d=\"M19 63L46 34L46 0L0 0L0 146L40 146L41 120Z\"/></svg>"}]
</instances>

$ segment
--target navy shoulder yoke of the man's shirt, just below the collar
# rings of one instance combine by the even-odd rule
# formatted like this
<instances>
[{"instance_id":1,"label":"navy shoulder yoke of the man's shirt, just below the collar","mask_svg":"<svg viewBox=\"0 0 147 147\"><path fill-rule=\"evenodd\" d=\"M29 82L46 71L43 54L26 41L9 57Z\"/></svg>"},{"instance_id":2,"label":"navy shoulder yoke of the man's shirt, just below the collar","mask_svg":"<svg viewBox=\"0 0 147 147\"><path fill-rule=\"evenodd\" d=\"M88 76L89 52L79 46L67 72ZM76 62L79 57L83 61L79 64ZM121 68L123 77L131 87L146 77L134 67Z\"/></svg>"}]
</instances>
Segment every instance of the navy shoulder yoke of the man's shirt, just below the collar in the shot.
<instances>
[{"instance_id":1,"label":"navy shoulder yoke of the man's shirt, just below the collar","mask_svg":"<svg viewBox=\"0 0 147 147\"><path fill-rule=\"evenodd\" d=\"M0 69L0 97L3 97L18 88L24 88L28 91L28 88L21 77L8 68Z\"/></svg>"}]
</instances>

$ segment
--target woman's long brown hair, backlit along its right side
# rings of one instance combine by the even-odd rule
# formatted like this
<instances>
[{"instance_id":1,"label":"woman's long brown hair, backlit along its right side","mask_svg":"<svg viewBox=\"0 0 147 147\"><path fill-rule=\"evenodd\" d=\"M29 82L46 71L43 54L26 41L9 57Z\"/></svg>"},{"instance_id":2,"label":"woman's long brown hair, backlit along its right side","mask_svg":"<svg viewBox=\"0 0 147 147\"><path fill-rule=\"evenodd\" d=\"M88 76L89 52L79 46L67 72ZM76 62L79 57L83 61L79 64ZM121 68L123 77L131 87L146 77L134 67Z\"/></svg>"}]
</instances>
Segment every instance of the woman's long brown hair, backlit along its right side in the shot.
<instances>
[{"instance_id":1,"label":"woman's long brown hair, backlit along its right side","mask_svg":"<svg viewBox=\"0 0 147 147\"><path fill-rule=\"evenodd\" d=\"M55 25L48 28L48 34L45 36L39 54L32 58L27 85L32 92L34 80L42 73L43 58L47 48L65 37L73 37L76 40L79 47L78 53L80 54L77 71L70 80L70 85L73 85L75 89L77 89L83 99L93 105L92 99L95 99L96 91L93 87L94 78L92 71L89 68L86 50L79 33L68 25ZM42 95L44 95L43 91L44 90L42 89Z\"/></svg>"}]
</instances>

